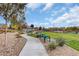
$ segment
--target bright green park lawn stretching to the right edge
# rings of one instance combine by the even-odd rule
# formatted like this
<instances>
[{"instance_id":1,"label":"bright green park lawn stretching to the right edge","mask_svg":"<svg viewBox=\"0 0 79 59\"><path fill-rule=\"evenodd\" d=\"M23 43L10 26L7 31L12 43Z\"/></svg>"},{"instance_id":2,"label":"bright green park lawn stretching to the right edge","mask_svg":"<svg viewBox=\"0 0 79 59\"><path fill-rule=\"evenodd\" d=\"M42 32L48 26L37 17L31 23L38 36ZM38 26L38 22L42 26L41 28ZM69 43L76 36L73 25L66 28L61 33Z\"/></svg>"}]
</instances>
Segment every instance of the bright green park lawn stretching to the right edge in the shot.
<instances>
[{"instance_id":1,"label":"bright green park lawn stretching to the right edge","mask_svg":"<svg viewBox=\"0 0 79 59\"><path fill-rule=\"evenodd\" d=\"M46 34L55 39L63 38L66 41L66 45L79 51L79 34L55 32L43 32L43 34Z\"/></svg>"}]
</instances>

